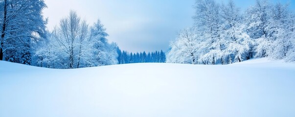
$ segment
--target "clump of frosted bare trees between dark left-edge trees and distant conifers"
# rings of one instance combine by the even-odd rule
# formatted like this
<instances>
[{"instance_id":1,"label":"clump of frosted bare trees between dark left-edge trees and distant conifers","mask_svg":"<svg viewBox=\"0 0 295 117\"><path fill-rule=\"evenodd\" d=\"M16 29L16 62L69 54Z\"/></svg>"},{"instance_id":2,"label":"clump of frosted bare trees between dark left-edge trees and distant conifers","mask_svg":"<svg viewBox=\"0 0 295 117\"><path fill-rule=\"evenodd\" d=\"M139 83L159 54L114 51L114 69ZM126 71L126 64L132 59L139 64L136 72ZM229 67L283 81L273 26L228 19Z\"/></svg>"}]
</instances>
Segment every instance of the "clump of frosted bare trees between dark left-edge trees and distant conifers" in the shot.
<instances>
[{"instance_id":1,"label":"clump of frosted bare trees between dark left-edge trees and distant conifers","mask_svg":"<svg viewBox=\"0 0 295 117\"><path fill-rule=\"evenodd\" d=\"M70 11L52 33L37 42L35 65L71 69L117 64L118 46L108 43L105 30L100 20L90 27Z\"/></svg>"}]
</instances>

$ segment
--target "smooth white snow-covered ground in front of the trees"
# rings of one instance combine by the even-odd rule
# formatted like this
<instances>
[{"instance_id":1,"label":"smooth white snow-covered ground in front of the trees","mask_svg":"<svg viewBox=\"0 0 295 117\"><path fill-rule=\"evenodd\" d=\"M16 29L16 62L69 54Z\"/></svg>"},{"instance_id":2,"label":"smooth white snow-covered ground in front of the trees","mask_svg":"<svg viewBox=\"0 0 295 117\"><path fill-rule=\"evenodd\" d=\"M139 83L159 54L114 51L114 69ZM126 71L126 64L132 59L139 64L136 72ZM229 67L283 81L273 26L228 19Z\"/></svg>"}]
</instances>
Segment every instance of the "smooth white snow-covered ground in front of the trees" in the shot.
<instances>
[{"instance_id":1,"label":"smooth white snow-covered ground in front of the trees","mask_svg":"<svg viewBox=\"0 0 295 117\"><path fill-rule=\"evenodd\" d=\"M0 117L295 117L295 63L55 70L0 61Z\"/></svg>"}]
</instances>

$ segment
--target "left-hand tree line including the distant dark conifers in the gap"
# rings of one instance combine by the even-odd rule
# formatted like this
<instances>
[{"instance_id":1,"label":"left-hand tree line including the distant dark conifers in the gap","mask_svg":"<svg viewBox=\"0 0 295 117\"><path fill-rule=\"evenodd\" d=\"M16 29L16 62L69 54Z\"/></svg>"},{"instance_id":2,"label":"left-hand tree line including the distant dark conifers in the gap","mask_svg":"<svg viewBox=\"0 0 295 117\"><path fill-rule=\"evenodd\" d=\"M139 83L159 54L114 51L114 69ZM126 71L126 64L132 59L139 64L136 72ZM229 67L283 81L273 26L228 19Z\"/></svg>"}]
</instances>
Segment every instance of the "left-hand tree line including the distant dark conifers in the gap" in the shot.
<instances>
[{"instance_id":1,"label":"left-hand tree line including the distant dark conifers in the gap","mask_svg":"<svg viewBox=\"0 0 295 117\"><path fill-rule=\"evenodd\" d=\"M108 42L100 20L90 25L75 11L46 30L46 7L44 0L0 0L0 60L58 69L165 62L162 51L121 52L116 43Z\"/></svg>"}]
</instances>

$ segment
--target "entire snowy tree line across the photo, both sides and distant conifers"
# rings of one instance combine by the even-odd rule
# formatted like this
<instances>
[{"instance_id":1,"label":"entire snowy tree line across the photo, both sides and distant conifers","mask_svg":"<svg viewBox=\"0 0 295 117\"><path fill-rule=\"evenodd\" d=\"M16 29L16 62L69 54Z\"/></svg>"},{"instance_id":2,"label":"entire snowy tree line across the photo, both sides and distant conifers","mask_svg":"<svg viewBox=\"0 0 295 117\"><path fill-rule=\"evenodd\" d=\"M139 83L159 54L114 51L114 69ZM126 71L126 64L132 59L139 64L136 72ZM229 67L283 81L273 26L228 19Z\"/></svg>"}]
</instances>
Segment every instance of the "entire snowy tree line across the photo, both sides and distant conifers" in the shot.
<instances>
[{"instance_id":1,"label":"entire snowy tree line across the photo, both sides and distant conifers","mask_svg":"<svg viewBox=\"0 0 295 117\"><path fill-rule=\"evenodd\" d=\"M108 42L106 28L75 11L46 30L44 0L0 0L0 60L48 68L137 62L230 64L269 57L295 61L295 13L289 4L256 0L241 12L232 0L196 0L194 24L162 51L128 53Z\"/></svg>"}]
</instances>

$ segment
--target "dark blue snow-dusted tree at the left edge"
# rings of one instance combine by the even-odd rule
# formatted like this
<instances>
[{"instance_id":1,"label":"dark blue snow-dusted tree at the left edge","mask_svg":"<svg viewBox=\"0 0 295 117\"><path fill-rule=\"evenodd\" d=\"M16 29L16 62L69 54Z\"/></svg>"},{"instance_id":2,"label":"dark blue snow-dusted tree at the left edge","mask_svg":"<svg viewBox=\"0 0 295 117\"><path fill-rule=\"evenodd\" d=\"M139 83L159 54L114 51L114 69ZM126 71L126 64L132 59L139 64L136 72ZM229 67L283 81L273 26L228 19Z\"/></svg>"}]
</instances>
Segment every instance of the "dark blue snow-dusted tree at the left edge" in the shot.
<instances>
[{"instance_id":1,"label":"dark blue snow-dusted tree at the left edge","mask_svg":"<svg viewBox=\"0 0 295 117\"><path fill-rule=\"evenodd\" d=\"M30 64L32 40L45 37L44 0L0 1L0 60Z\"/></svg>"}]
</instances>

